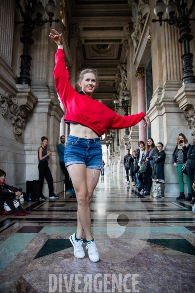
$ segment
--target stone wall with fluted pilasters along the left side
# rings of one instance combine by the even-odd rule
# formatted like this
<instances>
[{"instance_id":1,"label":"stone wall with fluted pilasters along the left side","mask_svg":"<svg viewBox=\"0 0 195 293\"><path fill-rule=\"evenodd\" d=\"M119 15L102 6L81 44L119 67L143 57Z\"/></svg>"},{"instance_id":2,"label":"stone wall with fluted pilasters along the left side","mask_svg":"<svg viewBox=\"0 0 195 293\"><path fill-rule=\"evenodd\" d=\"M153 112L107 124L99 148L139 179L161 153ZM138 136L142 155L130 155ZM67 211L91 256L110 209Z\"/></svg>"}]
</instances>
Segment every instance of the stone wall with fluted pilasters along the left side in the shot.
<instances>
[{"instance_id":1,"label":"stone wall with fluted pilasters along the left side","mask_svg":"<svg viewBox=\"0 0 195 293\"><path fill-rule=\"evenodd\" d=\"M42 1L44 6L47 2ZM24 7L25 1L20 3ZM56 4L59 7L60 1L57 0ZM64 189L57 152L64 110L60 106L53 77L57 45L48 38L48 35L52 28L60 30L61 23L53 23L52 27L46 23L33 31L34 44L30 46L31 86L18 85L20 55L23 50L23 44L20 42L22 25L16 25L14 21L21 21L20 12L15 8L14 1L7 0L0 1L0 13L0 33L3 36L3 42L0 44L0 94L8 92L16 97L18 105L29 107L26 126L23 127L23 133L18 140L14 136L10 113L4 117L0 114L0 168L6 171L8 184L25 190L26 180L39 178L38 148L40 138L46 136L49 139L48 149L52 151L49 167L54 179L54 192L58 194ZM45 14L43 19L46 17ZM56 18L60 19L59 11ZM65 35L63 37L65 38ZM67 44L65 40L67 59L71 63ZM47 189L45 182L43 194L46 197Z\"/></svg>"}]
</instances>

